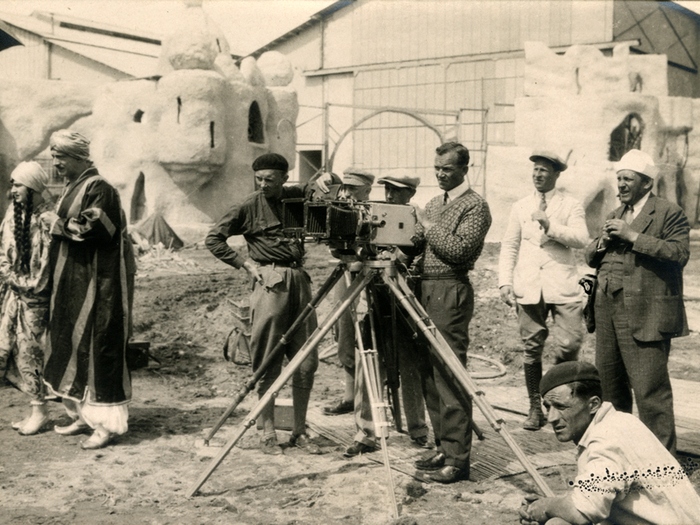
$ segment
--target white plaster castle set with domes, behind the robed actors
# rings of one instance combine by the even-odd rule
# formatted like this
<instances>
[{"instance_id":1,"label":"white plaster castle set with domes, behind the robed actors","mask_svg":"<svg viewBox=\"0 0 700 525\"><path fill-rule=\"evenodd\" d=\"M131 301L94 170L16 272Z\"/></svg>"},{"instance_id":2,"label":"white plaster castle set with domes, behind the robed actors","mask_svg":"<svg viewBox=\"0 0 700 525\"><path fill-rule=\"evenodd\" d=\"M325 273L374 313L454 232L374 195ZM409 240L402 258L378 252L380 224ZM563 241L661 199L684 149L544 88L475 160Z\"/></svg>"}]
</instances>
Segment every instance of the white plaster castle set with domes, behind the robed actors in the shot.
<instances>
[{"instance_id":1,"label":"white plaster castle set with domes, behind the robed actors","mask_svg":"<svg viewBox=\"0 0 700 525\"><path fill-rule=\"evenodd\" d=\"M175 31L164 43L158 81L5 81L0 169L9 174L45 149L53 131L75 123L92 142L97 168L120 190L127 216L143 173L147 214L159 211L178 233L204 233L253 191L251 164L258 155L280 153L293 167L299 104L289 61L271 52L259 64L246 59L239 70L225 38L197 6ZM264 128L261 143L248 140L253 101ZM202 227L192 227L197 224Z\"/></svg>"}]
</instances>

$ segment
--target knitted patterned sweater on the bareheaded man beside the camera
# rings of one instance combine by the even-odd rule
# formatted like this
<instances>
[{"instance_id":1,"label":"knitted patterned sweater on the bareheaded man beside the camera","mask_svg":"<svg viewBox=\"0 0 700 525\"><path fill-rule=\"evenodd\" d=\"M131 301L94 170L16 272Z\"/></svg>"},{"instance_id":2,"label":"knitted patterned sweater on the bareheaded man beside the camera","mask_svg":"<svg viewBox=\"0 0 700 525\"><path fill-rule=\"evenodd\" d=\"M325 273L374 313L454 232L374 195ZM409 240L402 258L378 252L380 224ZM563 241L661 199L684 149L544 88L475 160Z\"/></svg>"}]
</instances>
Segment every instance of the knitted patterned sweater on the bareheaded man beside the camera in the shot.
<instances>
[{"instance_id":1,"label":"knitted patterned sweater on the bareheaded man beside the camera","mask_svg":"<svg viewBox=\"0 0 700 525\"><path fill-rule=\"evenodd\" d=\"M425 247L423 275L465 275L484 248L491 226L489 205L471 188L447 205L443 195L433 197L425 207L433 226L416 228L417 244Z\"/></svg>"}]
</instances>

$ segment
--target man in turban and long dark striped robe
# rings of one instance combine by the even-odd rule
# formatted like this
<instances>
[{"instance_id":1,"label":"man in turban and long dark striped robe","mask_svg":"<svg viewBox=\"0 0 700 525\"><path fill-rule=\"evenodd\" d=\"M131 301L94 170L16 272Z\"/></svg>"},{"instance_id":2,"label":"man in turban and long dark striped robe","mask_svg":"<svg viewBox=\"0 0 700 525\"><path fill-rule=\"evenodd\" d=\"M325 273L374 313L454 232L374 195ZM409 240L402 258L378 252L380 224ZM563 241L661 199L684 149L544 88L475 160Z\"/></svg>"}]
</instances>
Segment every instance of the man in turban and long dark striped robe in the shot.
<instances>
[{"instance_id":1,"label":"man in turban and long dark striped robe","mask_svg":"<svg viewBox=\"0 0 700 525\"><path fill-rule=\"evenodd\" d=\"M61 130L49 141L66 186L51 234L53 288L44 379L74 421L62 435L93 429L84 449L101 448L128 429L126 366L133 249L119 193L90 160L90 141Z\"/></svg>"}]
</instances>

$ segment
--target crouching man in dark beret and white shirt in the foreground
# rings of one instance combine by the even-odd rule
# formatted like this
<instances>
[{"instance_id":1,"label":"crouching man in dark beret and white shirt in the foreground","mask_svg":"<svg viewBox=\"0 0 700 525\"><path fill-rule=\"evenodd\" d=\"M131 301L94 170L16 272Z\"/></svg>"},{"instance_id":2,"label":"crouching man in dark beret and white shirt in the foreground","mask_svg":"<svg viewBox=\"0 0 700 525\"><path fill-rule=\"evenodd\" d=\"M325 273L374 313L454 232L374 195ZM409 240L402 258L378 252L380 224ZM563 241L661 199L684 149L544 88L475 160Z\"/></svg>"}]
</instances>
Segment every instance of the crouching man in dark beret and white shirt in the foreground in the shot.
<instances>
[{"instance_id":1,"label":"crouching man in dark beret and white shirt in the foreground","mask_svg":"<svg viewBox=\"0 0 700 525\"><path fill-rule=\"evenodd\" d=\"M602 401L592 364L555 365L540 391L557 439L578 446L578 472L565 496L527 496L521 524L700 523L700 498L684 469L637 418Z\"/></svg>"}]
</instances>

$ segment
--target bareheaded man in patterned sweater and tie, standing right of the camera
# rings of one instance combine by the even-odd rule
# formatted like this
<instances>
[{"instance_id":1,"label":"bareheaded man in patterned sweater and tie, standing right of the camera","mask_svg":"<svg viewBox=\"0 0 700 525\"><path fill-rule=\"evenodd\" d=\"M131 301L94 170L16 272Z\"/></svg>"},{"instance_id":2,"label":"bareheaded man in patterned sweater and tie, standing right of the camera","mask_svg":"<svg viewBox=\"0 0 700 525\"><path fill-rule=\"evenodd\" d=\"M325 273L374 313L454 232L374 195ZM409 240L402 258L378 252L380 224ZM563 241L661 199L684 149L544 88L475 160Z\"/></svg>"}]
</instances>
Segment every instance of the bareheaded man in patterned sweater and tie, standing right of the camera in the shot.
<instances>
[{"instance_id":1,"label":"bareheaded man in patterned sweater and tie, standing right of the camera","mask_svg":"<svg viewBox=\"0 0 700 525\"><path fill-rule=\"evenodd\" d=\"M469 321L474 312L474 289L468 272L484 247L491 226L486 201L465 180L469 150L457 142L436 149L435 176L443 194L425 208L418 244L425 247L421 301L450 348L466 366ZM458 396L443 366L431 353L427 371L426 405L435 433L434 455L415 462L427 478L440 483L469 479L472 403Z\"/></svg>"}]
</instances>

